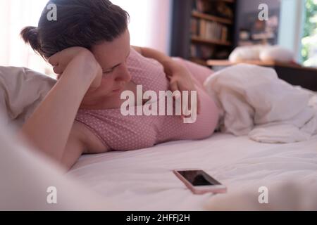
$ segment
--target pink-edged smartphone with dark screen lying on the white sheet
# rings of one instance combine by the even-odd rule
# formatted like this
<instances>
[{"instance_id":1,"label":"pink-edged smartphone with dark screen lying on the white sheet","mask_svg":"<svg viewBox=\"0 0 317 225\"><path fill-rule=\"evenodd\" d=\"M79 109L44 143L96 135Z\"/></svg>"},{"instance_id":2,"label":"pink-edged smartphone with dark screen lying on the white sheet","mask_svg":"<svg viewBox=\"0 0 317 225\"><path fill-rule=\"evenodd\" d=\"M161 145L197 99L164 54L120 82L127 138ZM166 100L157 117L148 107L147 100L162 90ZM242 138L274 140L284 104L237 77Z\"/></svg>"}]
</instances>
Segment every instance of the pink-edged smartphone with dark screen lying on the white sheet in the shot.
<instances>
[{"instance_id":1,"label":"pink-edged smartphone with dark screen lying on the white sheet","mask_svg":"<svg viewBox=\"0 0 317 225\"><path fill-rule=\"evenodd\" d=\"M174 169L173 173L192 193L226 193L227 188L201 169Z\"/></svg>"}]
</instances>

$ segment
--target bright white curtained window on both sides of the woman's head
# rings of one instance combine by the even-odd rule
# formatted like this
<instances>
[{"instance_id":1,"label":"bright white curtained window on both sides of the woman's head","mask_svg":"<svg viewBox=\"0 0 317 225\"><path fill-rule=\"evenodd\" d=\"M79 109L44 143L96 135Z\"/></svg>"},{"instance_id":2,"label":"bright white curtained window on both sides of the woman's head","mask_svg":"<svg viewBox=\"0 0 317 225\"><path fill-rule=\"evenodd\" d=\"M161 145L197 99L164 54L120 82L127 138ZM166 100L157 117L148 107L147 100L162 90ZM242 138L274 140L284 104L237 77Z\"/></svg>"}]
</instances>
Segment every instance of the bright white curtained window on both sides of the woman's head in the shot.
<instances>
[{"instance_id":1,"label":"bright white curtained window on both sides of the woman's head","mask_svg":"<svg viewBox=\"0 0 317 225\"><path fill-rule=\"evenodd\" d=\"M130 14L131 44L169 53L171 0L113 0ZM49 65L24 44L20 30L37 26L47 0L0 0L0 65L51 73Z\"/></svg>"}]
</instances>

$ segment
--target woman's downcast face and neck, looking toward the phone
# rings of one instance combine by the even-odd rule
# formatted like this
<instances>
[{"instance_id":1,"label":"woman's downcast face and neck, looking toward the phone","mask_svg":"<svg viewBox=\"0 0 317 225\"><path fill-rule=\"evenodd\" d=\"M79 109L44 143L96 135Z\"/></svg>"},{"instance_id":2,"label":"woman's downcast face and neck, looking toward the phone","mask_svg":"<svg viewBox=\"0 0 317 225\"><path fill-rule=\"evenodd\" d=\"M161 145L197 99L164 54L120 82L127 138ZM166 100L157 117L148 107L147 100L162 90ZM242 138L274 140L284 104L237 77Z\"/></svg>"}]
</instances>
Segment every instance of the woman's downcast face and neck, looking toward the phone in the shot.
<instances>
[{"instance_id":1,"label":"woman's downcast face and neck, looking toward the phone","mask_svg":"<svg viewBox=\"0 0 317 225\"><path fill-rule=\"evenodd\" d=\"M87 92L83 102L120 96L131 80L127 67L127 59L130 55L129 30L127 29L111 42L105 41L93 46L92 53L101 65L103 77L99 88Z\"/></svg>"}]
</instances>

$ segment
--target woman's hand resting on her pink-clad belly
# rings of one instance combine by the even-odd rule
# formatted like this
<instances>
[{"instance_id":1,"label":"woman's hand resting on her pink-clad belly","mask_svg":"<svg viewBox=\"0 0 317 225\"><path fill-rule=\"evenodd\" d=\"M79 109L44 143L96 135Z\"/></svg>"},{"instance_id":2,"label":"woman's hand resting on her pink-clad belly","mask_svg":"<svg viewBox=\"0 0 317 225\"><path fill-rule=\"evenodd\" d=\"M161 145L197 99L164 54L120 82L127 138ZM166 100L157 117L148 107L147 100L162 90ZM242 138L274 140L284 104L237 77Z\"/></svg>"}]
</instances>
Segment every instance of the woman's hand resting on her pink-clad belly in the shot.
<instances>
[{"instance_id":1,"label":"woman's hand resting on her pink-clad belly","mask_svg":"<svg viewBox=\"0 0 317 225\"><path fill-rule=\"evenodd\" d=\"M197 91L194 81L192 79L192 75L187 70L187 68L183 67L179 63L175 62L174 60L169 60L168 62L164 63L165 65L165 72L166 76L170 80L170 91L189 91L189 98L188 98L188 108L191 108L191 91ZM197 91L197 114L200 113L200 101Z\"/></svg>"}]
</instances>

